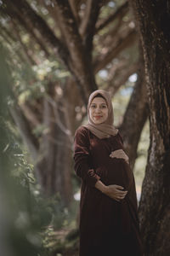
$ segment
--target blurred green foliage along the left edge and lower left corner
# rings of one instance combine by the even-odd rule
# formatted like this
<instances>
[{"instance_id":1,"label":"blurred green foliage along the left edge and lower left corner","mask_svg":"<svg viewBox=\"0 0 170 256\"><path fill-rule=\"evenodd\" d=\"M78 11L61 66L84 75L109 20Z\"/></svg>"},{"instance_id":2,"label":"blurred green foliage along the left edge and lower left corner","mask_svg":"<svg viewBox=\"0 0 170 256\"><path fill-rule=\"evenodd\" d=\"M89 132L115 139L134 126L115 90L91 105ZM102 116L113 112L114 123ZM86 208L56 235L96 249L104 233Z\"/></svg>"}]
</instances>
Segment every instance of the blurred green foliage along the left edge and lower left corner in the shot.
<instances>
[{"instance_id":1,"label":"blurred green foliage along the left edge and lower left corner","mask_svg":"<svg viewBox=\"0 0 170 256\"><path fill-rule=\"evenodd\" d=\"M28 162L27 153L21 149L22 145L14 133L14 124L8 115L7 99L11 96L8 85L12 79L8 66L4 64L5 56L2 56L0 192L3 201L0 201L0 224L3 223L4 231L0 230L0 243L3 236L6 247L10 248L14 256L47 256L53 252L56 243L59 244L55 230L69 226L73 209L66 209L59 195L49 198L42 195L34 176L34 166ZM53 232L54 246L48 239ZM0 254L6 256L2 251Z\"/></svg>"}]
</instances>

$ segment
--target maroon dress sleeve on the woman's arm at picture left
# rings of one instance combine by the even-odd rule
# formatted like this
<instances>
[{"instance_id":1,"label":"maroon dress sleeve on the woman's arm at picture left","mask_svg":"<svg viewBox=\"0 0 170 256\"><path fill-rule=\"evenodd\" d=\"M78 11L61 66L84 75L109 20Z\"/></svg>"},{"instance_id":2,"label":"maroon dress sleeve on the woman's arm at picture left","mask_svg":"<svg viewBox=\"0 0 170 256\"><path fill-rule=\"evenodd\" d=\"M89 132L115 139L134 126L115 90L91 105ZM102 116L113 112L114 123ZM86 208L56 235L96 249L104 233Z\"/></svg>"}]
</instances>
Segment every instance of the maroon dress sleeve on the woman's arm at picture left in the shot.
<instances>
[{"instance_id":1,"label":"maroon dress sleeve on the woman's arm at picture left","mask_svg":"<svg viewBox=\"0 0 170 256\"><path fill-rule=\"evenodd\" d=\"M82 126L77 129L75 134L73 158L77 176L81 177L89 185L94 186L100 177L90 166L88 130Z\"/></svg>"}]
</instances>

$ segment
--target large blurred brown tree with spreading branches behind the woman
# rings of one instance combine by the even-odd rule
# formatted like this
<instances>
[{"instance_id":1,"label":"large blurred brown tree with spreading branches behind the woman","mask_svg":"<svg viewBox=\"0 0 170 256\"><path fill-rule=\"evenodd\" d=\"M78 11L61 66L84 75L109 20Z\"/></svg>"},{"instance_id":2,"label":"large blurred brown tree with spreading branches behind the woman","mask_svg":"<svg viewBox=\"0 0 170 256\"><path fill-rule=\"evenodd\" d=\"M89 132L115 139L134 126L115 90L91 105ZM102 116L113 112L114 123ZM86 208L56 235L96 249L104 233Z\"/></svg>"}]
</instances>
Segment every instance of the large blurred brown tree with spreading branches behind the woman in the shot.
<instances>
[{"instance_id":1,"label":"large blurred brown tree with spreading branches behind the woman","mask_svg":"<svg viewBox=\"0 0 170 256\"><path fill-rule=\"evenodd\" d=\"M37 0L32 3L14 0L2 3L0 33L3 44L5 42L11 56L15 56L11 58L11 67L20 67L20 62L34 69L47 60L56 63L53 72L40 81L30 79L26 85L26 90L31 90L40 82L41 96L20 102L20 93L14 89L17 104L11 108L11 113L36 161L42 189L47 195L59 191L68 204L72 194L73 135L85 115L89 93L102 86L114 96L131 74L138 73L120 127L133 167L147 117L143 61L138 57L138 34L133 18L127 1ZM56 70L62 73L61 69L69 71L65 79L54 77ZM97 85L96 77L103 69L108 74L107 79ZM42 84L45 84L43 88ZM45 93L41 92L43 90ZM32 131L39 131L38 136Z\"/></svg>"}]
</instances>

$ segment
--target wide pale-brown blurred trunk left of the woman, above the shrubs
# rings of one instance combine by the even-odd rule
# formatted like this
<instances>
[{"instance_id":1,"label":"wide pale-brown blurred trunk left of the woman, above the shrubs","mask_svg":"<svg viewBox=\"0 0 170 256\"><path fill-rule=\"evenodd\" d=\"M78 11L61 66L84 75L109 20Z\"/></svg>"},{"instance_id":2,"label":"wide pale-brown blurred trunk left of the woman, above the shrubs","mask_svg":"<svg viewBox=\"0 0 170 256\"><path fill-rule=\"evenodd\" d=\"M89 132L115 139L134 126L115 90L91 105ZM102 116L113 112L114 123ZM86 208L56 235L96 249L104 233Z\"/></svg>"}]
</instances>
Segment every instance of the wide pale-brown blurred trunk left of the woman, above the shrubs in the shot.
<instances>
[{"instance_id":1,"label":"wide pale-brown blurred trunk left of the woman, above the shrubs","mask_svg":"<svg viewBox=\"0 0 170 256\"><path fill-rule=\"evenodd\" d=\"M59 193L61 201L69 206L72 199L71 134L66 128L65 115L58 104L45 98L43 108L45 130L36 164L37 178L46 195Z\"/></svg>"}]
</instances>

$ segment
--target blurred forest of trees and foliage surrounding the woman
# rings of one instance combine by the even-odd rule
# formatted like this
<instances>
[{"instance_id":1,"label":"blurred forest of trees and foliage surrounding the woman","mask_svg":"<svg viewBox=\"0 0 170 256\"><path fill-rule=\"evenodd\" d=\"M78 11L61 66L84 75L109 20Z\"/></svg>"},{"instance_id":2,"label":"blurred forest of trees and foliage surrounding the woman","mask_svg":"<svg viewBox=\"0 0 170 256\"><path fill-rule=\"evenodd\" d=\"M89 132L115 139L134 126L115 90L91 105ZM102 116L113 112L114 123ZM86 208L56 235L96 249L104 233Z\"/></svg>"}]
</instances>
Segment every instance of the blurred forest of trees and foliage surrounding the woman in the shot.
<instances>
[{"instance_id":1,"label":"blurred forest of trees and foliage surrounding the woman","mask_svg":"<svg viewBox=\"0 0 170 256\"><path fill-rule=\"evenodd\" d=\"M0 1L0 245L77 255L74 133L111 92L136 180L147 255L170 253L168 1Z\"/></svg>"}]
</instances>

